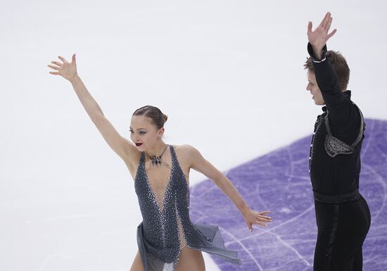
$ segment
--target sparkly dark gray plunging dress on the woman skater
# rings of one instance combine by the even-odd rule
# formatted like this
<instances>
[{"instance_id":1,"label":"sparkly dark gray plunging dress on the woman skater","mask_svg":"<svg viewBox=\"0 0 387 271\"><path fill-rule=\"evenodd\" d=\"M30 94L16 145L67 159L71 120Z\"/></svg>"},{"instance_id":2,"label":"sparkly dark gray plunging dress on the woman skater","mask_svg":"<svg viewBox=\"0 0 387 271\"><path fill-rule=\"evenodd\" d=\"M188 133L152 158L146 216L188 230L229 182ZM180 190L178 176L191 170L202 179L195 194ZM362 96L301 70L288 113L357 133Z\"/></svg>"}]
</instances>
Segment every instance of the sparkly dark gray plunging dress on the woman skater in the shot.
<instances>
[{"instance_id":1,"label":"sparkly dark gray plunging dress on the woman skater","mask_svg":"<svg viewBox=\"0 0 387 271\"><path fill-rule=\"evenodd\" d=\"M173 271L184 246L211 253L231 263L241 263L236 251L228 251L217 226L195 225L189 218L189 186L173 146L170 179L163 197L163 208L148 182L145 153L141 153L134 187L143 222L137 227L137 244L145 271Z\"/></svg>"}]
</instances>

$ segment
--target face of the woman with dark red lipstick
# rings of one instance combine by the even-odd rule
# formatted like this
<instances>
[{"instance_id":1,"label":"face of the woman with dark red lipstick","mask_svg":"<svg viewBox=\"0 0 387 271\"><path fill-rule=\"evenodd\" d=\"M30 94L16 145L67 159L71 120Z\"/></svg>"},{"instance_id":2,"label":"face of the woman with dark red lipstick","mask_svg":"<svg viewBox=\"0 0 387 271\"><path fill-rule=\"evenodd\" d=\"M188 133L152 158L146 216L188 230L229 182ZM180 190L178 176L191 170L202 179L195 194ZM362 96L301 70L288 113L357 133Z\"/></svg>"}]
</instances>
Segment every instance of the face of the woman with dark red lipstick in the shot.
<instances>
[{"instance_id":1,"label":"face of the woman with dark red lipstick","mask_svg":"<svg viewBox=\"0 0 387 271\"><path fill-rule=\"evenodd\" d=\"M130 139L139 151L153 149L164 134L164 127L158 129L150 118L134 115L130 121Z\"/></svg>"}]
</instances>

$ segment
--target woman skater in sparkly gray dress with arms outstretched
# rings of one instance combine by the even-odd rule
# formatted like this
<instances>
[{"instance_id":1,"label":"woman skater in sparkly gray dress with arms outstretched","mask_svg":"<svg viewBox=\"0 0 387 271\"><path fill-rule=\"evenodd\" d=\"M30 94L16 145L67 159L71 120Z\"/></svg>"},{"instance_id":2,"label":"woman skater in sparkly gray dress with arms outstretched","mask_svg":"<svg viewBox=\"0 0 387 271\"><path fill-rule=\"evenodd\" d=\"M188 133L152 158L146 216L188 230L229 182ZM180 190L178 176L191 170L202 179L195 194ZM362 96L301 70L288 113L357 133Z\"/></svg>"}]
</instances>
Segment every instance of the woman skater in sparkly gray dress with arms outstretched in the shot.
<instances>
[{"instance_id":1,"label":"woman skater in sparkly gray dress with arms outstretched","mask_svg":"<svg viewBox=\"0 0 387 271\"><path fill-rule=\"evenodd\" d=\"M224 248L216 226L194 225L189 218L189 170L212 179L243 215L250 231L253 224L266 227L268 211L251 210L227 177L189 145L163 141L167 116L153 106L134 111L130 122L132 142L115 130L77 75L75 54L69 63L52 61L52 75L70 81L82 106L115 153L124 160L134 179L143 222L137 228L139 251L131 271L203 271L201 251L240 263L235 251Z\"/></svg>"}]
</instances>

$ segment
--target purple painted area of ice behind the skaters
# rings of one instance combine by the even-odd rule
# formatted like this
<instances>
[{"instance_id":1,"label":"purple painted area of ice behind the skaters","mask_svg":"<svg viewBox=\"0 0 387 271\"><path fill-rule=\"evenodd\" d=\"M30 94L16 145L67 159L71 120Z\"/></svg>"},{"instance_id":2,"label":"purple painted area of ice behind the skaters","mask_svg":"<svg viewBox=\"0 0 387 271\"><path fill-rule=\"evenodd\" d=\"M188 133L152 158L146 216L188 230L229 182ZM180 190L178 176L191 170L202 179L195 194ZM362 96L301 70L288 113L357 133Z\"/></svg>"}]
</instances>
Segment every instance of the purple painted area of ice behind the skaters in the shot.
<instances>
[{"instance_id":1,"label":"purple painted area of ice behind the skaters","mask_svg":"<svg viewBox=\"0 0 387 271\"><path fill-rule=\"evenodd\" d=\"M364 270L383 270L387 258L387 121L366 120L360 192L369 203L372 225L363 246ZM220 189L205 180L191 189L191 219L219 225L225 245L242 265L214 258L223 271L312 270L317 237L308 173L311 137L226 172L255 210L271 210L274 222L252 233Z\"/></svg>"}]
</instances>

